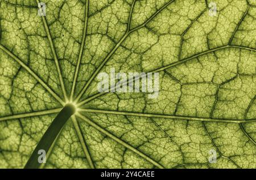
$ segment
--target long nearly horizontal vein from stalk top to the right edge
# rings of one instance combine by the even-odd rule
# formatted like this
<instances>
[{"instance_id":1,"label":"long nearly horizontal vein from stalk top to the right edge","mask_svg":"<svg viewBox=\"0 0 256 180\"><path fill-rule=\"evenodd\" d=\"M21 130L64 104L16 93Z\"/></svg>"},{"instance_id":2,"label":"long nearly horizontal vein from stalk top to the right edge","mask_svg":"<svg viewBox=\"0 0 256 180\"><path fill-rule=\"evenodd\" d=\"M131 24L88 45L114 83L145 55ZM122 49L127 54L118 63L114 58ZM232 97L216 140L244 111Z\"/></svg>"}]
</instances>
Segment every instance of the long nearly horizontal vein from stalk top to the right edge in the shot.
<instances>
[{"instance_id":1,"label":"long nearly horizontal vein from stalk top to the right edge","mask_svg":"<svg viewBox=\"0 0 256 180\"><path fill-rule=\"evenodd\" d=\"M121 112L121 111L114 111L114 110L99 110L99 109L79 109L79 110L80 110L80 112L86 112L86 113L131 115L131 116L147 117L147 118L169 118L169 119L190 120L190 121L229 122L229 123L256 122L256 119L247 119L247 120L245 120L245 119L216 119L216 118L188 117L188 116L180 116L180 115Z\"/></svg>"}]
</instances>

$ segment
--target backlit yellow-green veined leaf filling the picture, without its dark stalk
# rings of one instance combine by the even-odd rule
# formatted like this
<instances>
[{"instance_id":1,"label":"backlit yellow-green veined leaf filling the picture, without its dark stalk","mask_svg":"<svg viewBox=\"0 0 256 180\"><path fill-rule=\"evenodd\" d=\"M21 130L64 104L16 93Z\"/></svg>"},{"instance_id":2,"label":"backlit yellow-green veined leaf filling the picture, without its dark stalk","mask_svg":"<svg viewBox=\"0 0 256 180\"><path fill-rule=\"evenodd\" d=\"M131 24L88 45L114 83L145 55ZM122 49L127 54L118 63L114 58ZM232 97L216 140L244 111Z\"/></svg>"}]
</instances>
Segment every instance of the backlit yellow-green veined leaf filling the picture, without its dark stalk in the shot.
<instances>
[{"instance_id":1,"label":"backlit yellow-green veined leaf filling the picture, without its dark stalk","mask_svg":"<svg viewBox=\"0 0 256 180\"><path fill-rule=\"evenodd\" d=\"M0 168L256 168L256 2L0 0ZM159 72L159 96L99 93L100 72ZM216 163L209 162L214 149Z\"/></svg>"}]
</instances>

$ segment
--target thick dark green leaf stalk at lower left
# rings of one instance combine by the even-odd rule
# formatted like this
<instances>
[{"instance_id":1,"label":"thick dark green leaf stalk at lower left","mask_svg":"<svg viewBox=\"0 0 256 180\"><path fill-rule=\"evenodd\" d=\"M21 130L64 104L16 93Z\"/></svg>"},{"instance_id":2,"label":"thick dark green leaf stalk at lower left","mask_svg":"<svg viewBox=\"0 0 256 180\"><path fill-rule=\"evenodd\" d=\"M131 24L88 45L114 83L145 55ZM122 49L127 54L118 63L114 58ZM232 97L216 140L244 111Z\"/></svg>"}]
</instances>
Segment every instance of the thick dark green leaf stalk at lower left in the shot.
<instances>
[{"instance_id":1,"label":"thick dark green leaf stalk at lower left","mask_svg":"<svg viewBox=\"0 0 256 180\"><path fill-rule=\"evenodd\" d=\"M53 119L51 125L48 127L46 132L44 133L42 139L39 141L38 145L32 152L27 164L24 168L26 169L36 169L40 168L40 163L38 162L38 151L43 149L46 151L46 154L51 148L52 143L55 141L57 135L59 134L61 128L65 125L68 119L76 112L75 106L72 104L67 104L64 108L60 111L60 113Z\"/></svg>"}]
</instances>

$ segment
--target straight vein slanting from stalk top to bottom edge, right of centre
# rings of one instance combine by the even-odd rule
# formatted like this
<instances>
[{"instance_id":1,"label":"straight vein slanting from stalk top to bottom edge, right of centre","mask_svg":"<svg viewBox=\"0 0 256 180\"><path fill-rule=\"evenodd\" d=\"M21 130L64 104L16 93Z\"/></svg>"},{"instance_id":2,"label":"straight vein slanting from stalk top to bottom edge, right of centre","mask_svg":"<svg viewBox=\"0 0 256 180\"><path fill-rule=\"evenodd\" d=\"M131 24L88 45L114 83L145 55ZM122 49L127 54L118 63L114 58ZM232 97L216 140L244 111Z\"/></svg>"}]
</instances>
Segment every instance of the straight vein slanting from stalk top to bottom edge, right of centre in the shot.
<instances>
[{"instance_id":1,"label":"straight vein slanting from stalk top to bottom edge, right of centre","mask_svg":"<svg viewBox=\"0 0 256 180\"><path fill-rule=\"evenodd\" d=\"M105 134L106 136L109 136L109 138L113 139L115 142L123 145L124 147L126 147L127 149L130 149L130 151L133 151L134 153L137 153L137 155L141 156L142 158L144 158L145 160L147 160L148 162L151 162L153 165L155 165L158 168L163 169L164 166L160 165L158 162L156 162L155 160L153 160L151 157L145 155L143 152L139 151L138 149L134 148L132 145L127 144L126 142L124 142L123 140L117 138L117 136L114 136L113 134L111 134L110 132L106 131L104 128L102 128L101 126L97 125L96 123L94 123L92 120L90 120L87 117L84 117L81 114L77 114L77 116L79 118L81 118L82 120L84 120L86 123L88 123L90 126L96 128L98 131L102 132L102 134Z\"/></svg>"}]
</instances>

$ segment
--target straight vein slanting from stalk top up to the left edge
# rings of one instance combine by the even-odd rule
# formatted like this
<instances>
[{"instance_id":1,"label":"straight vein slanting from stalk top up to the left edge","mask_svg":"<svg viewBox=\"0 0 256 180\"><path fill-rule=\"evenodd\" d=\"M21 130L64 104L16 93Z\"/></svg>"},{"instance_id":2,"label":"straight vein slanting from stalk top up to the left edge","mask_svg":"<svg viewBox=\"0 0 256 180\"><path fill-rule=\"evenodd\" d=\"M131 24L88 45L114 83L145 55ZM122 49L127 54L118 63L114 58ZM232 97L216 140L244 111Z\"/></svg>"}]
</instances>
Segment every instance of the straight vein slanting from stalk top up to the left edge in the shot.
<instances>
[{"instance_id":1,"label":"straight vein slanting from stalk top up to the left edge","mask_svg":"<svg viewBox=\"0 0 256 180\"><path fill-rule=\"evenodd\" d=\"M35 72L31 70L30 67L28 67L24 62L22 62L18 57L16 57L16 55L14 55L12 52L6 49L5 46L0 44L0 49L2 49L3 52L5 52L11 58L13 58L16 62L18 62L19 65L22 66L31 76L33 76L33 78L35 78L57 101L59 101L60 104L64 105L63 100L61 100L61 98L55 92L53 92L52 89L49 88L48 85L44 83L43 80L40 79L39 76L36 75Z\"/></svg>"}]
</instances>

